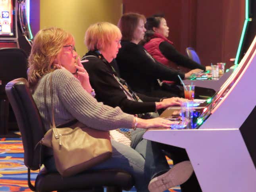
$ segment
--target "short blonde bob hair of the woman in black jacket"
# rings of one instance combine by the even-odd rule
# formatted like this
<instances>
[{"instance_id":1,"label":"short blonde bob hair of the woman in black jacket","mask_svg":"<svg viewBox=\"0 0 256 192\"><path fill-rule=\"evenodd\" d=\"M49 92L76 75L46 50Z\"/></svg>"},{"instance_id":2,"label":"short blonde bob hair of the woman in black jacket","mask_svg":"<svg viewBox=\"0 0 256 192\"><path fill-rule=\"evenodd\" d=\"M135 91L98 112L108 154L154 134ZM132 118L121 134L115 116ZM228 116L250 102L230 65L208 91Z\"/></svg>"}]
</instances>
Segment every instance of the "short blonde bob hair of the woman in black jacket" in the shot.
<instances>
[{"instance_id":1,"label":"short blonde bob hair of the woman in black jacket","mask_svg":"<svg viewBox=\"0 0 256 192\"><path fill-rule=\"evenodd\" d=\"M121 31L112 23L95 23L85 32L85 45L90 51L105 50L113 40L121 37Z\"/></svg>"}]
</instances>

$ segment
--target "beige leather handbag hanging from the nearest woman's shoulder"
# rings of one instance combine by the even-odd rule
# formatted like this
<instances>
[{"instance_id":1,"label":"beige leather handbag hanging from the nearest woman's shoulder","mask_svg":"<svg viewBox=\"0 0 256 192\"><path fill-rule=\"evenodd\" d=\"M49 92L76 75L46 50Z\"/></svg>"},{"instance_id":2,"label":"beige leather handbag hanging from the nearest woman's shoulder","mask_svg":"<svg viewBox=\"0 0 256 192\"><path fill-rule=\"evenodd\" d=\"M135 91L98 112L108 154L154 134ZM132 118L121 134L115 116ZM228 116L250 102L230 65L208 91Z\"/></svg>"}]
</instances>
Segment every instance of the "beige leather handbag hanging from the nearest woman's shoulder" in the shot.
<instances>
[{"instance_id":1,"label":"beige leather handbag hanging from the nearest woman's shoulder","mask_svg":"<svg viewBox=\"0 0 256 192\"><path fill-rule=\"evenodd\" d=\"M44 88L46 103L45 91L46 88ZM50 76L50 94L52 102L52 75ZM64 177L89 169L112 155L108 131L88 128L81 122L70 127L56 128L53 104L51 129L42 138L42 144L52 148L56 168Z\"/></svg>"}]
</instances>

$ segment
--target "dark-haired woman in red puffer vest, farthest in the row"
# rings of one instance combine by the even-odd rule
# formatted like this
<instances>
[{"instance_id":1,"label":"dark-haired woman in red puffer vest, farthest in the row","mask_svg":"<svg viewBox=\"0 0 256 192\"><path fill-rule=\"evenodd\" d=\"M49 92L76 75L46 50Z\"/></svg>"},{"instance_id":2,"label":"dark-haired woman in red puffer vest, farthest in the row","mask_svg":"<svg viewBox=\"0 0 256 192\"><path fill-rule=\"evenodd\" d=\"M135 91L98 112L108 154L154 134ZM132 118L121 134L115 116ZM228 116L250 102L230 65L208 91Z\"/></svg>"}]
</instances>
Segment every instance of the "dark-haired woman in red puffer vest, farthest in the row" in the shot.
<instances>
[{"instance_id":1,"label":"dark-haired woman in red puffer vest, farthest in the row","mask_svg":"<svg viewBox=\"0 0 256 192\"><path fill-rule=\"evenodd\" d=\"M178 52L173 42L167 39L169 36L169 27L167 26L164 15L153 15L146 19L146 33L144 35L144 48L158 62L178 69L178 66L189 69L210 70L211 66L204 66L196 63L190 58L183 56Z\"/></svg>"}]
</instances>

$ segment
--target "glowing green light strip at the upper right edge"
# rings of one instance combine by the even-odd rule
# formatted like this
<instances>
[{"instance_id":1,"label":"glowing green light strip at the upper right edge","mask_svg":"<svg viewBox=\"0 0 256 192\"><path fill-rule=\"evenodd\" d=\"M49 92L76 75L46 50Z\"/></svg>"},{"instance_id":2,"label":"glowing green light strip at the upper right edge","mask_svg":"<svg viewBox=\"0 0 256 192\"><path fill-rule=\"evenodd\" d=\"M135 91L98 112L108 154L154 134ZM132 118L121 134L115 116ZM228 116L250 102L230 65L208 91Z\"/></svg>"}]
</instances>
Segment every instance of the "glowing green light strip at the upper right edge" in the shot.
<instances>
[{"instance_id":1,"label":"glowing green light strip at the upper right edge","mask_svg":"<svg viewBox=\"0 0 256 192\"><path fill-rule=\"evenodd\" d=\"M245 0L245 20L244 20L244 27L243 27L243 31L242 31L242 34L241 34L241 38L240 38L240 41L239 41L239 46L238 46L238 49L237 49L237 55L235 57L235 65L238 65L238 60L240 58L240 55L241 55L241 49L242 49L242 45L243 45L243 42L244 42L244 36L245 36L245 32L246 32L246 29L247 29L247 26L248 26L248 22L249 21L252 21L251 18L249 18L249 0Z\"/></svg>"}]
</instances>

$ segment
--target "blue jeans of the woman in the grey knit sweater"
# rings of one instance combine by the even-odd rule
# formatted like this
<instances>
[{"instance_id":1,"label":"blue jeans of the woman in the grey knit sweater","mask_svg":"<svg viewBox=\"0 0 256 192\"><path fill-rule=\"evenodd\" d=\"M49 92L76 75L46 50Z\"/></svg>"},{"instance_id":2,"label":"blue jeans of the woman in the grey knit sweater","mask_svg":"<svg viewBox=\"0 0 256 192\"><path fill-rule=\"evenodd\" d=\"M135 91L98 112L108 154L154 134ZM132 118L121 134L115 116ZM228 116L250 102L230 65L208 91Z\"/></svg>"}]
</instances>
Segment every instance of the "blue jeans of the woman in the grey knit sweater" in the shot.
<instances>
[{"instance_id":1,"label":"blue jeans of the woman in the grey knit sweater","mask_svg":"<svg viewBox=\"0 0 256 192\"><path fill-rule=\"evenodd\" d=\"M169 170L159 143L142 138L144 129L131 132L131 147L111 140L112 157L89 170L121 169L130 173L135 180L137 192L148 192L148 183L155 175ZM145 161L146 159L146 161ZM48 171L57 172L53 156L44 161Z\"/></svg>"}]
</instances>

